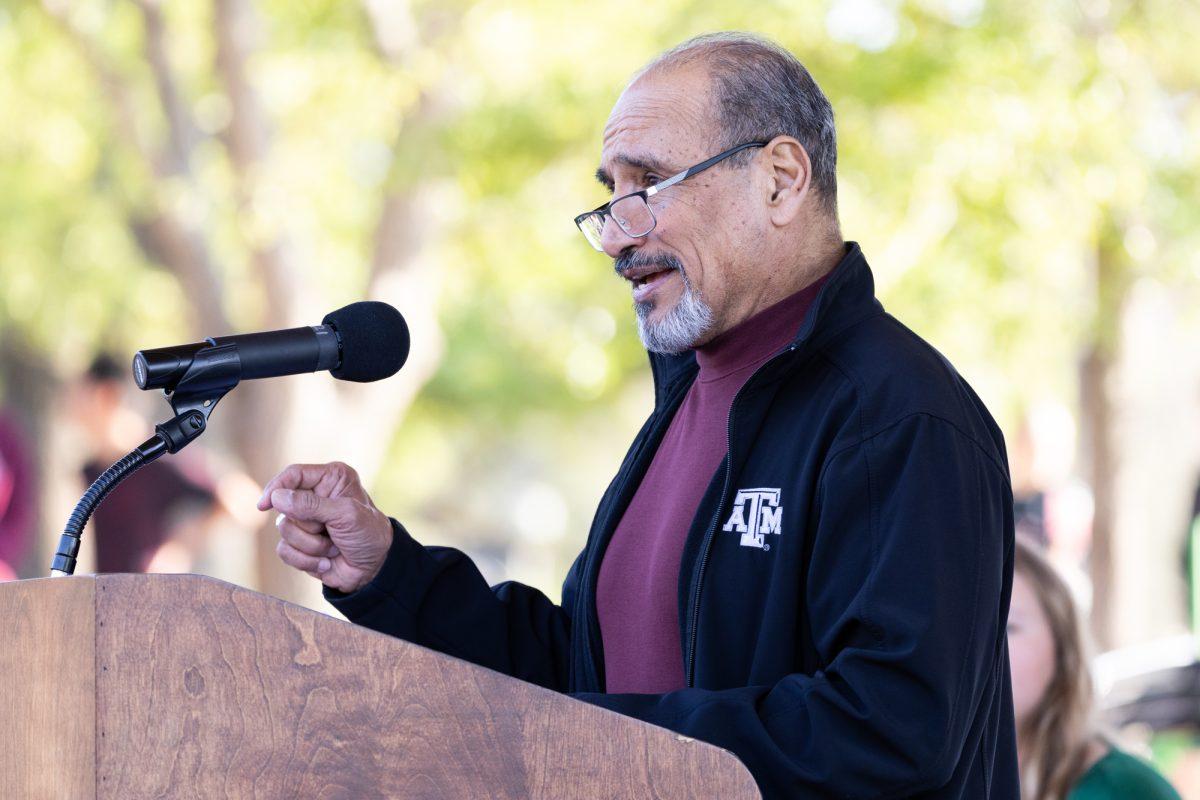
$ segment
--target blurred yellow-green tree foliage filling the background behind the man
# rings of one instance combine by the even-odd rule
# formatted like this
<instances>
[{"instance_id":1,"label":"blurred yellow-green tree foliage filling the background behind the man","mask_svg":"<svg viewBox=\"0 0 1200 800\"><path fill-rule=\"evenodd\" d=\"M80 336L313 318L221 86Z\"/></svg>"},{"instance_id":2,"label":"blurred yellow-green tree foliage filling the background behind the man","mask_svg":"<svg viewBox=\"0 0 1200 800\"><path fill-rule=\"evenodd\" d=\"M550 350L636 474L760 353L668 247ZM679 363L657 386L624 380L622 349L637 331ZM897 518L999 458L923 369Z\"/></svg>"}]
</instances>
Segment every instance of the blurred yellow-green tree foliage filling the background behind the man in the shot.
<instances>
[{"instance_id":1,"label":"blurred yellow-green tree foliage filling the background behind the man","mask_svg":"<svg viewBox=\"0 0 1200 800\"><path fill-rule=\"evenodd\" d=\"M348 301L384 191L432 185L445 357L380 477L389 501L428 500L406 477L418 443L467 464L472 449L517 447L534 415L562 432L540 443L559 464L576 457L572 426L648 399L628 291L571 217L604 199L590 174L628 76L692 34L757 30L810 66L838 113L846 236L863 242L888 308L1009 426L1031 398L1069 398L1081 343L1115 324L1097 321L1098 247L1115 248L1126 281L1194 293L1200 278L1192 2L418 2L395 61L359 5L258 11L250 70L272 146L242 206L218 144L229 98L208 4L164 5L172 66L208 137L191 187L138 160L60 23L32 2L0 6L0 327L19 327L64 372L98 343L186 337L184 293L130 225L161 203L182 204L211 236L234 324L270 302L250 245L283 228L299 279ZM71 19L161 143L136 6L79 4ZM431 98L437 113L414 124ZM611 467L635 425L619 416L596 459ZM575 501L572 524L592 499Z\"/></svg>"}]
</instances>

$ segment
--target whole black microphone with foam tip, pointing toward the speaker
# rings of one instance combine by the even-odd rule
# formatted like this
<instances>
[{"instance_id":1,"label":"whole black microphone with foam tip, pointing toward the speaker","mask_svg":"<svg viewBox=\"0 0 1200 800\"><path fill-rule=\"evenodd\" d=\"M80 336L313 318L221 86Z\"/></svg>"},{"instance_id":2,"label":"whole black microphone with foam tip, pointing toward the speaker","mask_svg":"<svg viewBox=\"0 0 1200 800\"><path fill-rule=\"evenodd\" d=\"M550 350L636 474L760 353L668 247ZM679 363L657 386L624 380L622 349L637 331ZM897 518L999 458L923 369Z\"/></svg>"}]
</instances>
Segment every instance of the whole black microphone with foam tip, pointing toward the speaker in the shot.
<instances>
[{"instance_id":1,"label":"whole black microphone with foam tip, pointing toward the speaker","mask_svg":"<svg viewBox=\"0 0 1200 800\"><path fill-rule=\"evenodd\" d=\"M320 321L139 350L133 379L138 389L174 391L185 377L194 379L208 371L250 380L329 369L341 380L370 383L396 374L408 359L408 325L385 302L354 302Z\"/></svg>"}]
</instances>

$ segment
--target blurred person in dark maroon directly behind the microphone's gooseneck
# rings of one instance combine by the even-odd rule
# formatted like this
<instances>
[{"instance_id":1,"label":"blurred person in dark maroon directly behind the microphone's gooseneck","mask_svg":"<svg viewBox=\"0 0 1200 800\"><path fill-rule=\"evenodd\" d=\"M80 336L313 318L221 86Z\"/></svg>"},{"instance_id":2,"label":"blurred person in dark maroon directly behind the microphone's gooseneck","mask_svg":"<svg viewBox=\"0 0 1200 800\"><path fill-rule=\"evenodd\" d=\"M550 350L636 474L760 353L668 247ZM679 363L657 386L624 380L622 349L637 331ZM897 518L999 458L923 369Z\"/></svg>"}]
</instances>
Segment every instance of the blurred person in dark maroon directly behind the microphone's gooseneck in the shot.
<instances>
[{"instance_id":1,"label":"blurred person in dark maroon directly behind the microphone's gooseneck","mask_svg":"<svg viewBox=\"0 0 1200 800\"><path fill-rule=\"evenodd\" d=\"M127 371L101 354L72 387L71 416L89 444L85 486L150 434L148 420L125 403L128 383ZM200 450L143 467L91 518L96 572L190 572L224 513Z\"/></svg>"}]
</instances>

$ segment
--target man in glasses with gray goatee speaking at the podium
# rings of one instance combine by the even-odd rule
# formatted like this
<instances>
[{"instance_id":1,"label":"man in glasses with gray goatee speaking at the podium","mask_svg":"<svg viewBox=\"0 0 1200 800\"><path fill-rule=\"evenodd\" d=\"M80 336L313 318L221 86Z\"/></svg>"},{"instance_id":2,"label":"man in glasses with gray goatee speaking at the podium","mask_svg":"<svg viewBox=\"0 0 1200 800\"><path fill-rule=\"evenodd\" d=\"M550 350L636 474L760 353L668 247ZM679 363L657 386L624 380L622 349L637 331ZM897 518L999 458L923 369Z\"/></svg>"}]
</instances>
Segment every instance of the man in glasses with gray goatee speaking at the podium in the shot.
<instances>
[{"instance_id":1,"label":"man in glasses with gray goatee speaking at the podium","mask_svg":"<svg viewBox=\"0 0 1200 800\"><path fill-rule=\"evenodd\" d=\"M638 72L576 224L629 282L654 410L563 603L422 547L344 464L259 507L350 620L709 741L767 798L1018 798L1003 439L888 315L833 110L740 34Z\"/></svg>"}]
</instances>

